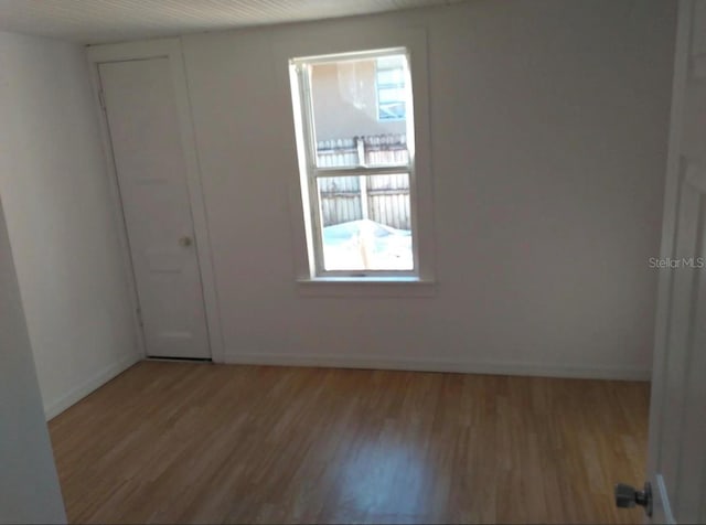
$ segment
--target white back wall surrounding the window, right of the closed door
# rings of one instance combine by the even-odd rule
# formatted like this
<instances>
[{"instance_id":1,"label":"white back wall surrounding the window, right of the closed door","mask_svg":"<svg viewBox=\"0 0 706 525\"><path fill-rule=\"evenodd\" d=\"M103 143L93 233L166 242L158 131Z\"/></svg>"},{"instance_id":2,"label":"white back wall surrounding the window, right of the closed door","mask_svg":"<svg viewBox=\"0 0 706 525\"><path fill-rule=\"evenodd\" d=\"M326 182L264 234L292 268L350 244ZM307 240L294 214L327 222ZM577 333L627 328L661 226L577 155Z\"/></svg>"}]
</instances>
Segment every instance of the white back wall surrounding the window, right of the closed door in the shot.
<instances>
[{"instance_id":1,"label":"white back wall surrounding the window, right of the closed door","mask_svg":"<svg viewBox=\"0 0 706 525\"><path fill-rule=\"evenodd\" d=\"M227 360L646 378L675 8L479 1L183 38ZM391 28L428 34L437 293L302 297L274 50Z\"/></svg>"}]
</instances>

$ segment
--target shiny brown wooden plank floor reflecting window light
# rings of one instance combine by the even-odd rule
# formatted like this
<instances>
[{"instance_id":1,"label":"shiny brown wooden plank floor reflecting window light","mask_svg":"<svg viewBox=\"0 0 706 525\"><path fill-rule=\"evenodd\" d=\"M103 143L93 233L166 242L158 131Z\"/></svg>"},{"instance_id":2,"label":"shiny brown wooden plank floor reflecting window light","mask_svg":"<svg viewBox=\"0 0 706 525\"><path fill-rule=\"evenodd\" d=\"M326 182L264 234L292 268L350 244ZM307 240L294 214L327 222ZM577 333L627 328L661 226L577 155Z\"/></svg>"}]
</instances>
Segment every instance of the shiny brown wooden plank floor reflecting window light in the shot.
<instances>
[{"instance_id":1,"label":"shiny brown wooden plank floor reflecting window light","mask_svg":"<svg viewBox=\"0 0 706 525\"><path fill-rule=\"evenodd\" d=\"M139 363L50 424L74 523L640 523L646 383Z\"/></svg>"}]
</instances>

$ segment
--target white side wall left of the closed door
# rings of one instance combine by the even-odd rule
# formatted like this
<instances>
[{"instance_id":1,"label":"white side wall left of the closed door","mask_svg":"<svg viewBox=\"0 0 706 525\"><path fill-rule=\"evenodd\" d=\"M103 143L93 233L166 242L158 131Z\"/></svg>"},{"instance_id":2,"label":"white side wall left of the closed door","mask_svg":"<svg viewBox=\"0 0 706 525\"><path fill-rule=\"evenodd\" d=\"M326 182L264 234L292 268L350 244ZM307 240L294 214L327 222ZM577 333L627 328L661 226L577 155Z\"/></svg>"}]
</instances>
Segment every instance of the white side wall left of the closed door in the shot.
<instances>
[{"instance_id":1,"label":"white side wall left of the closed door","mask_svg":"<svg viewBox=\"0 0 706 525\"><path fill-rule=\"evenodd\" d=\"M47 417L137 360L85 50L0 32L0 196Z\"/></svg>"}]
</instances>

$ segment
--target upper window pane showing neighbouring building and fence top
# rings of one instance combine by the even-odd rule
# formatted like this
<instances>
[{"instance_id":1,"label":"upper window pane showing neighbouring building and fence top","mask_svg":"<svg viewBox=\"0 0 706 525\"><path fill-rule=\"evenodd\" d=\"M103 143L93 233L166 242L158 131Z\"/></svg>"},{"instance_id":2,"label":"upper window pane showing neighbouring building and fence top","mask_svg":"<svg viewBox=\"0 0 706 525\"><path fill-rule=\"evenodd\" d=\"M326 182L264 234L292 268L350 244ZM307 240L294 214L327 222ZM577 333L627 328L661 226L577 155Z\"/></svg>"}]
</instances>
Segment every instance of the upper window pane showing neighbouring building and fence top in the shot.
<instances>
[{"instance_id":1,"label":"upper window pane showing neighbouring building and fence top","mask_svg":"<svg viewBox=\"0 0 706 525\"><path fill-rule=\"evenodd\" d=\"M406 76L405 55L310 65L319 168L407 162Z\"/></svg>"}]
</instances>

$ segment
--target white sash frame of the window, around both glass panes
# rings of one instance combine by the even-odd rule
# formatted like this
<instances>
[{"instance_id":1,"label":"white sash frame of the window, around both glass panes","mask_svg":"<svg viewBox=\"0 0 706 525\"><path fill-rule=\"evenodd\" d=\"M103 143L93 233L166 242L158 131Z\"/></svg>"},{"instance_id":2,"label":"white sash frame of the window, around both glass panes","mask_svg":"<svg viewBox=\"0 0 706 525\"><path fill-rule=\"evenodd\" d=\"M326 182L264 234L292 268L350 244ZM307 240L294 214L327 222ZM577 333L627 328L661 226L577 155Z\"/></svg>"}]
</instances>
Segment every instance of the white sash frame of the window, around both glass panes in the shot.
<instances>
[{"instance_id":1,"label":"white sash frame of the window, around both glass panes","mask_svg":"<svg viewBox=\"0 0 706 525\"><path fill-rule=\"evenodd\" d=\"M405 89L407 90L406 99L406 138L407 149L409 151L408 162L405 164L371 167L361 164L356 167L345 168L320 168L317 162L317 137L314 130L313 118L313 99L311 92L311 66L325 63L341 63L345 61L375 60L381 56L405 55L407 61L407 71L405 78ZM411 83L411 63L409 52L406 47L392 47L373 51L336 53L331 55L307 56L291 58L290 81L292 87L292 104L295 113L299 113L296 117L296 127L299 148L300 167L303 165L304 173L301 173L302 193L308 193L307 203L304 203L304 213L308 213L308 242L309 255L313 260L310 261L311 278L347 278L347 279L379 279L379 278L402 278L418 279L419 278L419 250L417 242L417 214L416 214L416 191L415 191L415 126L414 126L414 96ZM336 176L366 176L366 175L384 175L384 174L407 174L409 178L409 207L410 207L410 226L411 226L411 251L413 251L413 269L410 270L327 270L324 266L323 255L323 228L321 224L321 202L319 197L318 179L336 178ZM306 186L306 188L304 188Z\"/></svg>"}]
</instances>

